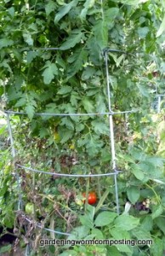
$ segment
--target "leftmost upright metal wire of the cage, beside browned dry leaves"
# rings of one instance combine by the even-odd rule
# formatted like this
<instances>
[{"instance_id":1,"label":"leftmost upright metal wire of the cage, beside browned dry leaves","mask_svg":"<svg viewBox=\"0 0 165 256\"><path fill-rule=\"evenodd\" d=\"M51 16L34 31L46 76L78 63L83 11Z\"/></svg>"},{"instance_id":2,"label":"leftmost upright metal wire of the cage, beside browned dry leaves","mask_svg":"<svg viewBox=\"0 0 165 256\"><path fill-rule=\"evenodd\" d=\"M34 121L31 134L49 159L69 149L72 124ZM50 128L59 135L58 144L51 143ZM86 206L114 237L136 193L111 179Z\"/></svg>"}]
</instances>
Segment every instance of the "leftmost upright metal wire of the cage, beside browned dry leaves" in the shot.
<instances>
[{"instance_id":1,"label":"leftmost upright metal wire of the cage, beside browned dry leaves","mask_svg":"<svg viewBox=\"0 0 165 256\"><path fill-rule=\"evenodd\" d=\"M7 113L7 124L8 124L8 131L9 131L9 140L11 143L11 154L13 157L13 160L15 161L16 158L16 151L14 148L14 138L13 138L13 134L12 134L12 128L11 128L11 124L10 124L10 114ZM20 177L19 174L17 172L15 163L14 163L14 171L15 171L15 177L16 177L16 181L17 181L17 189L18 189L18 193L19 193L19 201L18 201L18 211L20 211L20 209L22 208L22 195L21 195L21 189L20 189Z\"/></svg>"}]
</instances>

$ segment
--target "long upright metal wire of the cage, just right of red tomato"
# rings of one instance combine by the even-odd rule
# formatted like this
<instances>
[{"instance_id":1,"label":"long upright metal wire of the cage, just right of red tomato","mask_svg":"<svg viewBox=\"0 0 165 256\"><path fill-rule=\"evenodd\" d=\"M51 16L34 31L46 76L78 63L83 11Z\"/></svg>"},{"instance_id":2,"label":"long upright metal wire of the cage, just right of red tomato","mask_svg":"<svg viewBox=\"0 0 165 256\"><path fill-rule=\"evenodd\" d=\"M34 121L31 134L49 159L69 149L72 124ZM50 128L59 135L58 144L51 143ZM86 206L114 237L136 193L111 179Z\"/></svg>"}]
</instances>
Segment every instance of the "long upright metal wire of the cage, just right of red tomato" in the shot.
<instances>
[{"instance_id":1,"label":"long upright metal wire of the cage, just right of red tomato","mask_svg":"<svg viewBox=\"0 0 165 256\"><path fill-rule=\"evenodd\" d=\"M107 94L108 94L108 108L109 108L109 112L111 112L111 90L110 90L110 81L109 81L107 51L105 51L105 69L106 69L106 84L107 84ZM114 138L113 115L112 114L109 114L109 125L110 125L110 143L111 143L112 168L113 168L113 170L115 172L117 172L115 138ZM116 203L117 203L117 214L119 214L117 174L114 174L114 181L115 181L115 194L116 194Z\"/></svg>"}]
</instances>

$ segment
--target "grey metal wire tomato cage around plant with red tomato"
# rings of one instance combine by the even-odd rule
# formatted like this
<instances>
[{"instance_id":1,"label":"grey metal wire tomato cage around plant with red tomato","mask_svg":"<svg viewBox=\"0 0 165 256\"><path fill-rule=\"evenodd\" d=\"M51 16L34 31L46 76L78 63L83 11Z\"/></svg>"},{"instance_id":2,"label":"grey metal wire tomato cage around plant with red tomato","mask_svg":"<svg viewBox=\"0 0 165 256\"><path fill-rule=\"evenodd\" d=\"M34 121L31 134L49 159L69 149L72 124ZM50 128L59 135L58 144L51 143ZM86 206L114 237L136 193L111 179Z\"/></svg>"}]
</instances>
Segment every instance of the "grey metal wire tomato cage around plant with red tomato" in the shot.
<instances>
[{"instance_id":1,"label":"grey metal wire tomato cage around plant with red tomato","mask_svg":"<svg viewBox=\"0 0 165 256\"><path fill-rule=\"evenodd\" d=\"M59 48L41 48L41 49L30 49L29 51L33 50L61 50ZM112 177L114 178L114 184L115 184L115 197L116 197L116 206L117 206L117 214L120 213L120 206L119 206L119 201L118 201L118 189L117 189L117 176L121 172L117 170L117 160L116 160L116 148L115 148L115 137L114 137L114 127L113 127L113 116L116 114L120 113L125 113L128 115L128 113L134 113L133 110L128 110L128 111L122 111L122 112L113 112L111 108L111 84L110 84L110 79L109 79L109 67L108 67L108 54L109 52L116 52L116 53L125 53L122 50L118 49L105 49L103 51L103 58L105 61L105 76L106 76L106 90L107 90L107 101L108 101L108 111L105 113L35 113L36 116L59 116L59 117L64 117L64 116L103 116L106 115L107 118L109 119L109 139L110 139L110 154L111 154L111 163L110 163L110 172L107 173L100 173L100 174L65 174L65 173L56 173L56 172L44 172L43 170L37 170L31 167L26 167L20 164L15 163L14 165L14 176L16 177L17 181L17 189L19 191L19 199L18 199L18 211L23 212L23 200L22 200L22 191L21 191L21 186L20 186L20 174L19 174L19 168L24 171L28 172L37 172L37 173L42 173L44 175L51 175L51 176L58 176L58 177ZM7 124L8 124L8 130L9 130L9 139L11 143L11 154L13 157L13 160L16 160L17 154L16 150L14 148L14 137L13 137L13 132L12 132L12 125L10 118L12 115L26 115L25 112L14 112L14 111L4 111L6 118L7 118ZM28 223L32 224L31 219L26 217L26 214L21 215ZM43 230L48 230L50 232L53 232L55 234L59 235L64 235L64 236L69 236L71 234L66 233L66 232L60 232L58 230L51 230L46 227L43 228L42 224L37 223L36 224L37 228L41 228Z\"/></svg>"}]
</instances>

